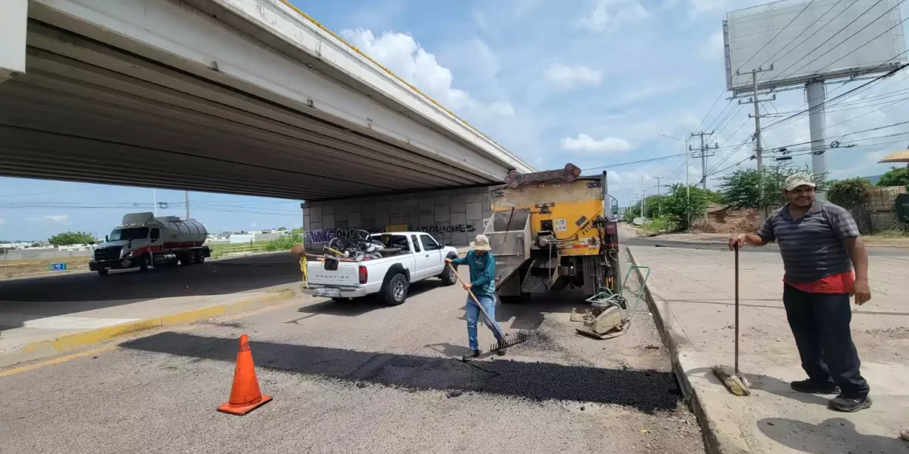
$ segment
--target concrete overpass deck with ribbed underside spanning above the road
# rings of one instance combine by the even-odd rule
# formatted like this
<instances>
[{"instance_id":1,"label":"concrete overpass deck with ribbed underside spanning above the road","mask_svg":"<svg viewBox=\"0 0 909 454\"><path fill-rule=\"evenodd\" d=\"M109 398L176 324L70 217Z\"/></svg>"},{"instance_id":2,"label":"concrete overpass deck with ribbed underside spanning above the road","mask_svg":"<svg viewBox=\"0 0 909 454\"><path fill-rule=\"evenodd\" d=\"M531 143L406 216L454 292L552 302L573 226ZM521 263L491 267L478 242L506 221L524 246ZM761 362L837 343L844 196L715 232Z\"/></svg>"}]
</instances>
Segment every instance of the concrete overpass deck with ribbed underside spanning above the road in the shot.
<instances>
[{"instance_id":1,"label":"concrete overpass deck with ribbed underside spanning above the road","mask_svg":"<svg viewBox=\"0 0 909 454\"><path fill-rule=\"evenodd\" d=\"M307 201L533 168L284 0L4 0L0 174Z\"/></svg>"}]
</instances>

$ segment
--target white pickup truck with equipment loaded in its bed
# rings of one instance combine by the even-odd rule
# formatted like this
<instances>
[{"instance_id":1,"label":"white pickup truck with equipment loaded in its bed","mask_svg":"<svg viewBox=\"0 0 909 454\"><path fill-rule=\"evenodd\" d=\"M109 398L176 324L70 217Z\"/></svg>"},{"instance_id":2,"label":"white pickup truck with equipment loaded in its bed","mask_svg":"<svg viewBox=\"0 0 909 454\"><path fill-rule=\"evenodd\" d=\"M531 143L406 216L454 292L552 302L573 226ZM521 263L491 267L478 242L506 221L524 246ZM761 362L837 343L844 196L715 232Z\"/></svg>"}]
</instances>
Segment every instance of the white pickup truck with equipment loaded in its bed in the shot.
<instances>
[{"instance_id":1,"label":"white pickup truck with equipment loaded in its bed","mask_svg":"<svg viewBox=\"0 0 909 454\"><path fill-rule=\"evenodd\" d=\"M445 285L457 281L454 271L445 266L446 258L457 257L457 250L436 242L425 232L376 233L371 235L389 248L401 252L363 262L310 260L306 264L308 286L302 289L313 296L335 301L350 300L377 293L380 301L396 306L407 298L415 281L441 278Z\"/></svg>"}]
</instances>

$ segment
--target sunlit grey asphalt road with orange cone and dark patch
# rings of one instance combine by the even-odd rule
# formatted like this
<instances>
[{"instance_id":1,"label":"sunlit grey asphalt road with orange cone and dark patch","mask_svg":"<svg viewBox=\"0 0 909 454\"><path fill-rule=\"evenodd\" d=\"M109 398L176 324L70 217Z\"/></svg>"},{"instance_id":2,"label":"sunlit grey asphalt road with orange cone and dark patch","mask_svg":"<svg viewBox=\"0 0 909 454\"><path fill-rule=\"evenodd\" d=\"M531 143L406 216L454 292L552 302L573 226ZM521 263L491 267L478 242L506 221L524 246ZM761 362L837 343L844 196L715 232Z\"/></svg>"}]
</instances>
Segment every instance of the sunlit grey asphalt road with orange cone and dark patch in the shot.
<instances>
[{"instance_id":1,"label":"sunlit grey asphalt road with orange cone and dark patch","mask_svg":"<svg viewBox=\"0 0 909 454\"><path fill-rule=\"evenodd\" d=\"M703 453L646 304L594 341L569 321L580 298L499 305L532 339L470 364L464 291L433 279L397 307L301 298L0 372L0 451ZM236 417L215 408L242 333L274 400Z\"/></svg>"}]
</instances>

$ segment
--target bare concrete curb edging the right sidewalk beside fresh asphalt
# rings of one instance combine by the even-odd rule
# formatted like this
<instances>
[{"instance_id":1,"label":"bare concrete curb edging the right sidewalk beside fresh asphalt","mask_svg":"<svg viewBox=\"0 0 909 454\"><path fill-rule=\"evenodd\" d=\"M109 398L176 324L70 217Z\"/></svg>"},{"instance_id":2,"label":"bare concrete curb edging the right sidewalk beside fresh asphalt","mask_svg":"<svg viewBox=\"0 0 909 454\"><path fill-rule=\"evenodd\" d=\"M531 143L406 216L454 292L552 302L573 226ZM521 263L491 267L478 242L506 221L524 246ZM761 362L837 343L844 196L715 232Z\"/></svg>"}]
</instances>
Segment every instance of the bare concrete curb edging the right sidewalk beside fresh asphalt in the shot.
<instances>
[{"instance_id":1,"label":"bare concrete curb edging the right sidewalk beside fresh asphalt","mask_svg":"<svg viewBox=\"0 0 909 454\"><path fill-rule=\"evenodd\" d=\"M625 250L628 252L628 258L631 259L632 264L637 265L638 263L634 259L634 253L631 252L631 248L628 247ZM643 281L644 275L641 270L636 269L635 271L637 272L638 281ZM744 443L743 439L724 429L719 429L718 426L720 425L717 424L715 419L710 417L709 409L704 404L704 400L698 395L697 388L692 384L692 377L686 372L686 370L698 369L701 365L694 364L694 360L689 359L685 353L686 350L691 350L691 342L684 333L681 323L675 318L669 303L655 296L659 294L660 291L653 283L648 281L647 285L644 286L644 298L647 301L647 307L654 314L654 323L656 324L656 329L660 332L660 337L663 339L664 347L669 350L675 379L678 380L679 386L682 388L684 399L694 411L694 416L697 417L698 424L704 432L704 445L707 452L710 454L751 454L752 450Z\"/></svg>"}]
</instances>

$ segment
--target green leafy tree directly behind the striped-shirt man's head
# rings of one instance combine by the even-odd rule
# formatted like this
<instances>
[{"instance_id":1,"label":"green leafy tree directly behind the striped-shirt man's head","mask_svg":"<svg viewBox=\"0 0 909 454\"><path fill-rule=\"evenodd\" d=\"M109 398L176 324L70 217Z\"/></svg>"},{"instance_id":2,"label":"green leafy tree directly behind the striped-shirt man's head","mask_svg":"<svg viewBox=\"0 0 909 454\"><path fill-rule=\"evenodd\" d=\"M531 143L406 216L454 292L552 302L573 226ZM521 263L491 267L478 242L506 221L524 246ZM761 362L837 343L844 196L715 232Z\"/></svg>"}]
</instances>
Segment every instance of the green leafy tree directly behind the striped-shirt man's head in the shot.
<instances>
[{"instance_id":1,"label":"green leafy tree directly behind the striped-shirt man's head","mask_svg":"<svg viewBox=\"0 0 909 454\"><path fill-rule=\"evenodd\" d=\"M788 165L764 167L761 173L756 169L737 170L721 178L720 192L723 194L722 203L732 210L745 210L749 208L781 207L786 202L783 195L783 186L788 178L795 173L811 173L805 169L797 169ZM764 199L761 200L760 188L763 176ZM823 178L814 180L819 191L824 191L826 182Z\"/></svg>"}]
</instances>

